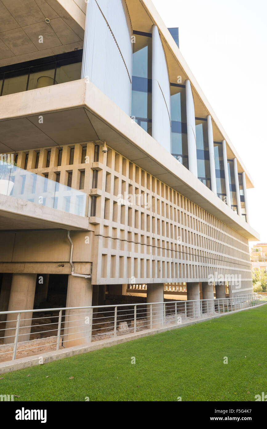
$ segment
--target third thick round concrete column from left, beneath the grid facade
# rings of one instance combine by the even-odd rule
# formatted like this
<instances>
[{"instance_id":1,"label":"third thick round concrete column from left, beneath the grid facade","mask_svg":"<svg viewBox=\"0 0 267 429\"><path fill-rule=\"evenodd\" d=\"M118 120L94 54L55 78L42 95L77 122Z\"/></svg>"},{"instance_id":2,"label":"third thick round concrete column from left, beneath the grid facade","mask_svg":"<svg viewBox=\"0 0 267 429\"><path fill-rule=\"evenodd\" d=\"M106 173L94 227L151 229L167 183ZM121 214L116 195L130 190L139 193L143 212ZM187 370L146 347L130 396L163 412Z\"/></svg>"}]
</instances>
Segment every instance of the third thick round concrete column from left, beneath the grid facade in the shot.
<instances>
[{"instance_id":1,"label":"third thick round concrete column from left, beneath the grid facade","mask_svg":"<svg viewBox=\"0 0 267 429\"><path fill-rule=\"evenodd\" d=\"M152 318L152 328L158 328L163 326L163 283L149 283L147 284L146 290L146 302L160 302L160 304L152 304L152 314L151 306L147 306L147 325L148 329L151 327L151 318Z\"/></svg>"}]
</instances>

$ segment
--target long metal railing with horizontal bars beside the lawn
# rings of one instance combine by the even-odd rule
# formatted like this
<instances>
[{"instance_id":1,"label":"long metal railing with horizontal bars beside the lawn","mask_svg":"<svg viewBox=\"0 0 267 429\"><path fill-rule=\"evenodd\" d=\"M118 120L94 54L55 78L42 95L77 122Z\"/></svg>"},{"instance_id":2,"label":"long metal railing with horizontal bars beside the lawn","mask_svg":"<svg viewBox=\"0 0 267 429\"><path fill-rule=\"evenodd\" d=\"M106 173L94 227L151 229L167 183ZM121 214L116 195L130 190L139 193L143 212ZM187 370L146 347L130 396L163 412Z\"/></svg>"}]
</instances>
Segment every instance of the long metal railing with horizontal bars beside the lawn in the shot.
<instances>
[{"instance_id":1,"label":"long metal railing with horizontal bars beside the lawn","mask_svg":"<svg viewBox=\"0 0 267 429\"><path fill-rule=\"evenodd\" d=\"M182 325L265 302L266 295L252 293L235 298L1 311L0 363L146 329Z\"/></svg>"}]
</instances>

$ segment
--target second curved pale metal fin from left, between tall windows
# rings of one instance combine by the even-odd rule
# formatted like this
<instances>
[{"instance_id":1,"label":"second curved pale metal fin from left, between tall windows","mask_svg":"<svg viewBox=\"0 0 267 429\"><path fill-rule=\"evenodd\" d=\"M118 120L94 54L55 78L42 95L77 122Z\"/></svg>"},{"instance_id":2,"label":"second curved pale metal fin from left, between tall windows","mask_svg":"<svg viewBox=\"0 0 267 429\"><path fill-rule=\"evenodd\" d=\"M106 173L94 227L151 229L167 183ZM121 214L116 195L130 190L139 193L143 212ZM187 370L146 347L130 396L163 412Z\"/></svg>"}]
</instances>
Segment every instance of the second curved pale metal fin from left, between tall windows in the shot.
<instances>
[{"instance_id":1,"label":"second curved pale metal fin from left, between tall windows","mask_svg":"<svg viewBox=\"0 0 267 429\"><path fill-rule=\"evenodd\" d=\"M165 52L152 27L152 137L171 153L171 94Z\"/></svg>"}]
</instances>

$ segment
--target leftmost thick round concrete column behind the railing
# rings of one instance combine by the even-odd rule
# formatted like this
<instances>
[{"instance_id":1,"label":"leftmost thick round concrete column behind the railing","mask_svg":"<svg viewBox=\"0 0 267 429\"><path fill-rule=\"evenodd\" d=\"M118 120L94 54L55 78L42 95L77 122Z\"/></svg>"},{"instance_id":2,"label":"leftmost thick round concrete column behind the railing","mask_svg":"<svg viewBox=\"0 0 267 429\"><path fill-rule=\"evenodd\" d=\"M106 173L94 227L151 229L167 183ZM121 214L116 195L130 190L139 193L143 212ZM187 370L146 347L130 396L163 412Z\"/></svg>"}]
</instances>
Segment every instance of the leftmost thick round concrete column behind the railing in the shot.
<instances>
[{"instance_id":1,"label":"leftmost thick round concrete column behind the railing","mask_svg":"<svg viewBox=\"0 0 267 429\"><path fill-rule=\"evenodd\" d=\"M33 309L36 276L36 274L25 273L13 274L8 311ZM15 335L17 316L18 314L8 314L6 318L4 344L14 342L15 337L13 335ZM29 313L21 313L18 342L30 340L31 327L24 328L24 326L30 326L32 324L32 316L32 311L29 311Z\"/></svg>"}]
</instances>

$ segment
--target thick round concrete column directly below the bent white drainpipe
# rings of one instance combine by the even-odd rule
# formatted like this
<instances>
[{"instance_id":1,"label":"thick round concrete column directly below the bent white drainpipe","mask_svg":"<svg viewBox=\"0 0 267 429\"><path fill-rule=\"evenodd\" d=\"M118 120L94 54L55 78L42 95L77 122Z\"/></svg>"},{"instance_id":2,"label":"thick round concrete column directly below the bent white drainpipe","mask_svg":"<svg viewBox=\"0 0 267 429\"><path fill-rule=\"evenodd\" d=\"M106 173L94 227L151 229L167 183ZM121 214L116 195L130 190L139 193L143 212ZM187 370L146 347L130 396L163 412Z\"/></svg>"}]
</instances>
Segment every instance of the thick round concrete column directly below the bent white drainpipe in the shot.
<instances>
[{"instance_id":1,"label":"thick round concrete column directly below the bent white drainpipe","mask_svg":"<svg viewBox=\"0 0 267 429\"><path fill-rule=\"evenodd\" d=\"M69 275L66 307L89 307L90 305L92 305L91 279ZM64 322L63 345L65 347L90 342L92 308L66 310L62 322Z\"/></svg>"}]
</instances>

